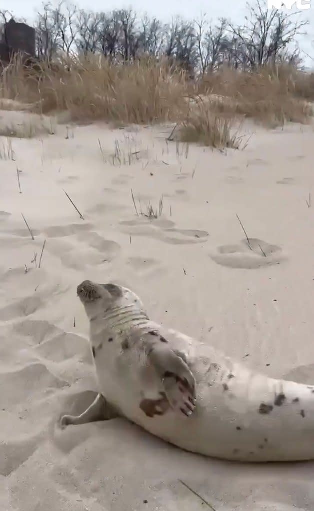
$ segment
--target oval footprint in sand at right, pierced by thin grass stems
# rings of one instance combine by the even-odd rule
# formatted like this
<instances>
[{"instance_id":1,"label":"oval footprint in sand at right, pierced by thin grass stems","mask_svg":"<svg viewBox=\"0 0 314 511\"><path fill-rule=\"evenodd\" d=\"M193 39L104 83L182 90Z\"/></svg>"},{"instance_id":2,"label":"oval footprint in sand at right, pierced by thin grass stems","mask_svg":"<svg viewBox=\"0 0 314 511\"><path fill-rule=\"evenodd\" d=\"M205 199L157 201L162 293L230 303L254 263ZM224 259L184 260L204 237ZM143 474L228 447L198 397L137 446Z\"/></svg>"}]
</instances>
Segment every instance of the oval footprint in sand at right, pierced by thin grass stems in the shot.
<instances>
[{"instance_id":1,"label":"oval footprint in sand at right, pierced by thin grass stems","mask_svg":"<svg viewBox=\"0 0 314 511\"><path fill-rule=\"evenodd\" d=\"M238 244L222 245L210 253L210 258L229 268L260 268L278 264L285 259L281 248L257 238L241 240Z\"/></svg>"}]
</instances>

